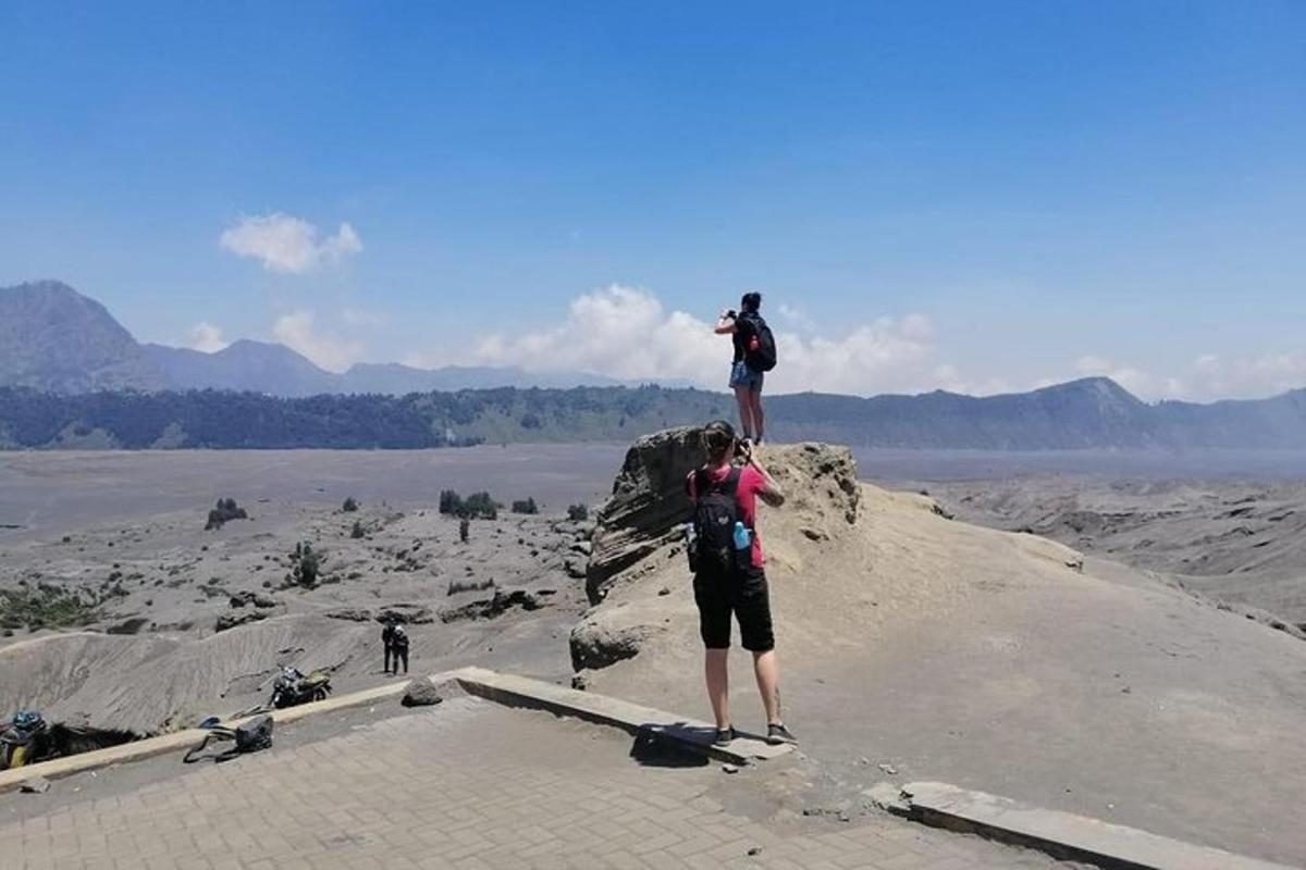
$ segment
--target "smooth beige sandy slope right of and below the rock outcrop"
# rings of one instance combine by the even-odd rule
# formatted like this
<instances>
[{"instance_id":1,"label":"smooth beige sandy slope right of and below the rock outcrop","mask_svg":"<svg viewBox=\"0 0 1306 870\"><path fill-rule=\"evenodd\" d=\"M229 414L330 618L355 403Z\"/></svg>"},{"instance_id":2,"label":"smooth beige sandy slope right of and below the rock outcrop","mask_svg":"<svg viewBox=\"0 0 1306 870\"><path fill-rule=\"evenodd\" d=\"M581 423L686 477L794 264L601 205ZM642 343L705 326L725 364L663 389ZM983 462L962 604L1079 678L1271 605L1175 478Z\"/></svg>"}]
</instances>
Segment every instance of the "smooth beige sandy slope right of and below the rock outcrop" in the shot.
<instances>
[{"instance_id":1,"label":"smooth beige sandy slope right of and below the rock outcrop","mask_svg":"<svg viewBox=\"0 0 1306 870\"><path fill-rule=\"evenodd\" d=\"M1306 862L1306 642L914 493L863 485L840 527L786 450L768 462L803 496L760 526L786 720L836 783L942 780ZM586 674L597 691L707 716L674 545L619 575L579 631L639 646ZM731 687L737 723L761 728L738 650Z\"/></svg>"}]
</instances>

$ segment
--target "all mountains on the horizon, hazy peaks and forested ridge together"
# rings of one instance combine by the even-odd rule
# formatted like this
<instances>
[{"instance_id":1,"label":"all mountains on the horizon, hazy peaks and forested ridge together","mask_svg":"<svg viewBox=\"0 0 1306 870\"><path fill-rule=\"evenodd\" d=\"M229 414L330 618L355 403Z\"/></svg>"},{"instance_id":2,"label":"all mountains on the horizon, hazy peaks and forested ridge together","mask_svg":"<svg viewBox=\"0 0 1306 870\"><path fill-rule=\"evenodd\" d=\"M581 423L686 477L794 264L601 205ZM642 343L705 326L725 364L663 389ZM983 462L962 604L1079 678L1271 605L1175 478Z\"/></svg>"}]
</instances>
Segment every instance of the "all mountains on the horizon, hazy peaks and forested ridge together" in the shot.
<instances>
[{"instance_id":1,"label":"all mountains on the horizon, hazy peaks and forested ridge together","mask_svg":"<svg viewBox=\"0 0 1306 870\"><path fill-rule=\"evenodd\" d=\"M64 284L0 290L0 447L628 441L734 412L721 393L610 383L402 365L333 374L260 342L217 353L140 346L102 305ZM1148 404L1114 381L1085 378L985 398L778 395L767 410L774 438L865 447L1306 449L1306 390Z\"/></svg>"}]
</instances>

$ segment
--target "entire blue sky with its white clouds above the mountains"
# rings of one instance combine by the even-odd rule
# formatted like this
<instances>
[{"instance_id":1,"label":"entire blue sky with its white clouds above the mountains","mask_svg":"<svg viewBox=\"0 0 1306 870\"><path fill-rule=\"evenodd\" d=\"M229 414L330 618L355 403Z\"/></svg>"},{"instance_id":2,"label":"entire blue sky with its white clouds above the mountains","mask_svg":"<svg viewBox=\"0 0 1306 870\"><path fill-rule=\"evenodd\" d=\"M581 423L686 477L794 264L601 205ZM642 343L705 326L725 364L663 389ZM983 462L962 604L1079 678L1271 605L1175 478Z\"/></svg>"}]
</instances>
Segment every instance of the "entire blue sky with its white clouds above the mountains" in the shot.
<instances>
[{"instance_id":1,"label":"entire blue sky with its white clouds above the mountains","mask_svg":"<svg viewBox=\"0 0 1306 870\"><path fill-rule=\"evenodd\" d=\"M333 368L717 385L756 288L777 389L1306 385L1306 4L204 5L0 4L0 284Z\"/></svg>"}]
</instances>

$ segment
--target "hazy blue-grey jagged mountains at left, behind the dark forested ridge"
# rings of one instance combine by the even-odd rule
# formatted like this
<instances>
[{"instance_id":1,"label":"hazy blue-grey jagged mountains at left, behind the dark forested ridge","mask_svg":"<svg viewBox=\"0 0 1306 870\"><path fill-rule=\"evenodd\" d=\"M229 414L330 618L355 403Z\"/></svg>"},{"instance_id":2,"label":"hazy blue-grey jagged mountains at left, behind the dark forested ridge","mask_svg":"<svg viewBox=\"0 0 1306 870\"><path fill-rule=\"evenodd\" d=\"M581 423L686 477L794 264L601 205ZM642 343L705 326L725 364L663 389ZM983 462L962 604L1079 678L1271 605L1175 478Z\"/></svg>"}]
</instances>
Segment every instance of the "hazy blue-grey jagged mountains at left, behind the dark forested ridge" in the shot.
<instances>
[{"instance_id":1,"label":"hazy blue-grey jagged mountains at left, behind the dark forested ridge","mask_svg":"<svg viewBox=\"0 0 1306 870\"><path fill-rule=\"evenodd\" d=\"M324 393L405 395L491 387L622 386L588 373L518 368L419 369L396 363L326 372L285 344L242 339L205 353L138 344L99 303L43 280L0 288L0 386L60 394L95 390L238 390L277 397Z\"/></svg>"}]
</instances>

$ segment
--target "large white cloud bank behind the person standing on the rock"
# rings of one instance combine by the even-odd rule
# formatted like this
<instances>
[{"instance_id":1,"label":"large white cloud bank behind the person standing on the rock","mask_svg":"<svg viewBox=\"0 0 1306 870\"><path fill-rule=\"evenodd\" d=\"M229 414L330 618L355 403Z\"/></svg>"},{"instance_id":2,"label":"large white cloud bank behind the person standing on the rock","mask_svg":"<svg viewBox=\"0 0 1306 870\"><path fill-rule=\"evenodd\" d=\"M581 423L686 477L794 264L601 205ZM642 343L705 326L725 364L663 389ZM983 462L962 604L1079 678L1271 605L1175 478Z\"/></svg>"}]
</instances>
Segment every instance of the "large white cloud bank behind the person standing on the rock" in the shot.
<instances>
[{"instance_id":1,"label":"large white cloud bank behind the person standing on the rock","mask_svg":"<svg viewBox=\"0 0 1306 870\"><path fill-rule=\"evenodd\" d=\"M774 329L774 327L773 327ZM921 314L882 317L838 338L776 330L772 390L870 395L938 383L934 331ZM478 363L533 370L585 370L623 380L688 380L724 389L730 342L692 314L666 310L652 292L613 284L572 301L565 320L525 334L494 334Z\"/></svg>"}]
</instances>

